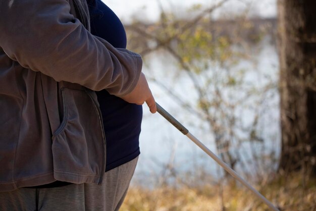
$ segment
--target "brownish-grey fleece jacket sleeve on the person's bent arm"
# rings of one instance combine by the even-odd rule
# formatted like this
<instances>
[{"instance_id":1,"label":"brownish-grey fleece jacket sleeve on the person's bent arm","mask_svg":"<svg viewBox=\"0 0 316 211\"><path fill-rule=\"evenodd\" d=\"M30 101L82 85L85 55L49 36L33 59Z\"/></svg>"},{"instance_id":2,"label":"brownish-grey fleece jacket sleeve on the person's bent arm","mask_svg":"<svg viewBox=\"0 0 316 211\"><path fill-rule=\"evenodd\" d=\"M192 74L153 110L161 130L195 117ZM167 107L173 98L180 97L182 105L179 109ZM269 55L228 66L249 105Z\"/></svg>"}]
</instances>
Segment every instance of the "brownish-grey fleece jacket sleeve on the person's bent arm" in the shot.
<instances>
[{"instance_id":1,"label":"brownish-grey fleece jacket sleeve on the person's bent arm","mask_svg":"<svg viewBox=\"0 0 316 211\"><path fill-rule=\"evenodd\" d=\"M0 16L0 47L25 68L118 96L139 79L141 57L90 34L67 0L2 0Z\"/></svg>"}]
</instances>

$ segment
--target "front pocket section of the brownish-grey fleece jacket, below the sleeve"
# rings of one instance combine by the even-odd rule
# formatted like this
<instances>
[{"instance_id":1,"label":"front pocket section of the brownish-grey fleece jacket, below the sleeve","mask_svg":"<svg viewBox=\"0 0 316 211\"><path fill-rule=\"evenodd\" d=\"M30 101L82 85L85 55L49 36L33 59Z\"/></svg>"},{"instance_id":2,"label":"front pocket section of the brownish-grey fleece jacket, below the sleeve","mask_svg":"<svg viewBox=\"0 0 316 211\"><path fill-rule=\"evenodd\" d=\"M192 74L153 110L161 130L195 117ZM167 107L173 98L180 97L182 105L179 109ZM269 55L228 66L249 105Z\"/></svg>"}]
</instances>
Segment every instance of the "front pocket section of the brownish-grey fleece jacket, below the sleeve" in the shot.
<instances>
[{"instance_id":1,"label":"front pocket section of the brownish-grey fleece jacket, below the sleeve","mask_svg":"<svg viewBox=\"0 0 316 211\"><path fill-rule=\"evenodd\" d=\"M98 105L87 91L63 88L61 92L63 121L52 136L54 171L73 175L63 180L75 183L101 177L106 155Z\"/></svg>"}]
</instances>

